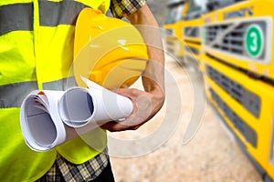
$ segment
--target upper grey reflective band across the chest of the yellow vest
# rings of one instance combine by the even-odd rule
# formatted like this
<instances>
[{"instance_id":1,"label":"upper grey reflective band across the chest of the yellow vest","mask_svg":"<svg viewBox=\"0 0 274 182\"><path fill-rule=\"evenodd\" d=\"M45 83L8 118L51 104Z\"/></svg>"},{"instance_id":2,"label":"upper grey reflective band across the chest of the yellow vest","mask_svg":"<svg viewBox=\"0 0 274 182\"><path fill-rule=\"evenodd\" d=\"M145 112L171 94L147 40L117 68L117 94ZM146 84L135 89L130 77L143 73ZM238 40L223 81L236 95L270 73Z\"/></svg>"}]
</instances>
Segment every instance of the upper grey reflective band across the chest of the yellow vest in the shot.
<instances>
[{"instance_id":1,"label":"upper grey reflective band across the chest of the yellow vest","mask_svg":"<svg viewBox=\"0 0 274 182\"><path fill-rule=\"evenodd\" d=\"M76 17L84 7L88 5L75 1L40 1L40 25L76 25ZM16 30L33 30L33 4L0 6L0 25L0 35Z\"/></svg>"}]
</instances>

